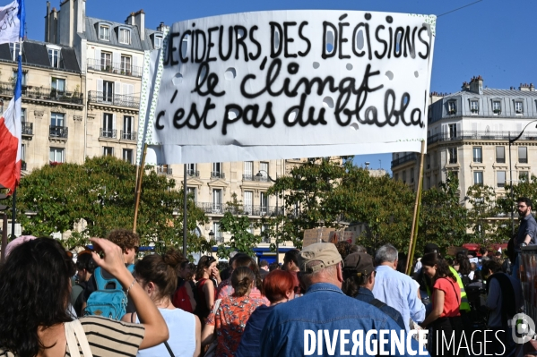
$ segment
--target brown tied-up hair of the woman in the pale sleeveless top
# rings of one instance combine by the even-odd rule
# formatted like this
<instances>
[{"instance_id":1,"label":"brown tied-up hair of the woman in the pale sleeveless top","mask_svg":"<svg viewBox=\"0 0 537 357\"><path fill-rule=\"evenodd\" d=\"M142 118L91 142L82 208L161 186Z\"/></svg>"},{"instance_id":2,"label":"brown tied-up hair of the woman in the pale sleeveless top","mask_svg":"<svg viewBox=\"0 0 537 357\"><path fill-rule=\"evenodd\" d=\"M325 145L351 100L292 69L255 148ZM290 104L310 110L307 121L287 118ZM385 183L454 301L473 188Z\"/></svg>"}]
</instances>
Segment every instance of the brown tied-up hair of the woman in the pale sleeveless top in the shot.
<instances>
[{"instance_id":1,"label":"brown tied-up hair of the woman in the pale sleeveless top","mask_svg":"<svg viewBox=\"0 0 537 357\"><path fill-rule=\"evenodd\" d=\"M156 299L164 296L171 296L178 287L177 269L180 261L177 256L170 252L159 255L146 255L142 260L138 260L134 267L136 276L140 277L146 284L152 282L159 291Z\"/></svg>"}]
</instances>

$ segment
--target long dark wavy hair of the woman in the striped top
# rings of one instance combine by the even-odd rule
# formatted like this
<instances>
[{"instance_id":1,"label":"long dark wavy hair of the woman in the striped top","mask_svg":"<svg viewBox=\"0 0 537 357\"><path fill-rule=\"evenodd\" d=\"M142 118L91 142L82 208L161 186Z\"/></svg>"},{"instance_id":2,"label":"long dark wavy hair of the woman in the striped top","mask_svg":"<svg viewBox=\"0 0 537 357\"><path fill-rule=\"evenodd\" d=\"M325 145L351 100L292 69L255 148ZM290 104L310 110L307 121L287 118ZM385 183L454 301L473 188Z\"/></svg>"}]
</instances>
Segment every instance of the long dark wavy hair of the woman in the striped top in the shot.
<instances>
[{"instance_id":1,"label":"long dark wavy hair of the woman in the striped top","mask_svg":"<svg viewBox=\"0 0 537 357\"><path fill-rule=\"evenodd\" d=\"M67 312L75 268L62 245L38 238L14 248L0 268L0 345L20 357L50 348L38 328L72 321Z\"/></svg>"}]
</instances>

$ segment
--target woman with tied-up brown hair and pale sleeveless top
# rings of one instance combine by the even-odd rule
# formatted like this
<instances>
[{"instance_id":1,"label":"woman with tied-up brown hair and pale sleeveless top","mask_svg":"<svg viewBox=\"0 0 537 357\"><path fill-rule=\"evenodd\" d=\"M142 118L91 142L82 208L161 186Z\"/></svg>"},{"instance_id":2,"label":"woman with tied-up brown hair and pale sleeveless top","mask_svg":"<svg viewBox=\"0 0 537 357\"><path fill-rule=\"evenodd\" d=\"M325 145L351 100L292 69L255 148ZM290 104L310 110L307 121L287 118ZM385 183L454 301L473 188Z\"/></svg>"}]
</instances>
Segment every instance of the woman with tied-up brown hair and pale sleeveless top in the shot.
<instances>
[{"instance_id":1,"label":"woman with tied-up brown hair and pale sleeveless top","mask_svg":"<svg viewBox=\"0 0 537 357\"><path fill-rule=\"evenodd\" d=\"M201 323L194 314L177 309L171 302L171 296L178 285L177 268L182 257L178 251L169 251L164 255L146 255L134 267L134 276L145 293L159 309L169 329L169 340L147 350L138 352L140 357L160 357L200 355ZM127 313L123 319L127 322L140 323L137 314Z\"/></svg>"}]
</instances>

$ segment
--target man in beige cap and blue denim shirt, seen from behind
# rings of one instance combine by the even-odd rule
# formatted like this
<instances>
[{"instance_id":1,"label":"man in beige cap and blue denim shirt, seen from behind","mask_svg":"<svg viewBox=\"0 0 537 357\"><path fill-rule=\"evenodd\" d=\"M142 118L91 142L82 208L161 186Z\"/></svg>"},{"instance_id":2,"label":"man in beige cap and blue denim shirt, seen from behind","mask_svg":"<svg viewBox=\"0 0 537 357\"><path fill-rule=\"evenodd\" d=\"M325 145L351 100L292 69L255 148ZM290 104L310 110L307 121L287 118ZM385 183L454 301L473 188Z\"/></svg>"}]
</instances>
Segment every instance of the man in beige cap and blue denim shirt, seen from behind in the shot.
<instances>
[{"instance_id":1,"label":"man in beige cap and blue denim shirt, seen from behind","mask_svg":"<svg viewBox=\"0 0 537 357\"><path fill-rule=\"evenodd\" d=\"M348 337L354 331L387 330L399 334L401 327L394 319L367 302L361 302L342 292L343 261L333 243L315 243L308 245L299 253L299 278L305 286L306 293L299 299L279 304L266 320L261 336L261 357L302 356L311 348L317 349L314 354L327 355L324 342L319 346L313 344L305 336L313 331L316 335L334 336L343 330ZM320 335L319 335L320 336ZM420 349L418 341L411 338L410 345L405 344L404 353L398 353L394 341L385 345L385 351L395 351L394 355L410 355ZM345 340L343 340L345 341ZM351 342L342 344L341 338L331 341L334 356L350 354ZM368 350L364 351L368 355ZM372 354L372 355L376 355Z\"/></svg>"}]
</instances>

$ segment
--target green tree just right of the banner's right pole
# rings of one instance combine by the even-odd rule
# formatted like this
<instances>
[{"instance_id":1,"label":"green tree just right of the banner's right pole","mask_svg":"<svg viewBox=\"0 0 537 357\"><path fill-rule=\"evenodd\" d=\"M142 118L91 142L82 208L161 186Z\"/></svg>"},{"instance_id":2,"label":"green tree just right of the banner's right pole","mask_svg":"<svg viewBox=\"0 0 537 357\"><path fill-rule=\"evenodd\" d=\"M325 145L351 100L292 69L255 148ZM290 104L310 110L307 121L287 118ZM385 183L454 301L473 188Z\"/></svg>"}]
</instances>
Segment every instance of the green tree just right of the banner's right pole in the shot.
<instances>
[{"instance_id":1,"label":"green tree just right of the banner's right pole","mask_svg":"<svg viewBox=\"0 0 537 357\"><path fill-rule=\"evenodd\" d=\"M420 255L429 242L436 243L441 251L451 245L461 246L469 239L468 223L466 208L460 202L459 180L450 173L446 182L422 191L416 252Z\"/></svg>"}]
</instances>

